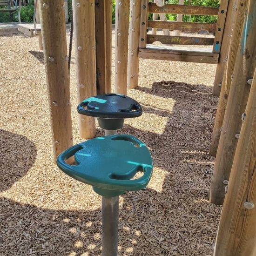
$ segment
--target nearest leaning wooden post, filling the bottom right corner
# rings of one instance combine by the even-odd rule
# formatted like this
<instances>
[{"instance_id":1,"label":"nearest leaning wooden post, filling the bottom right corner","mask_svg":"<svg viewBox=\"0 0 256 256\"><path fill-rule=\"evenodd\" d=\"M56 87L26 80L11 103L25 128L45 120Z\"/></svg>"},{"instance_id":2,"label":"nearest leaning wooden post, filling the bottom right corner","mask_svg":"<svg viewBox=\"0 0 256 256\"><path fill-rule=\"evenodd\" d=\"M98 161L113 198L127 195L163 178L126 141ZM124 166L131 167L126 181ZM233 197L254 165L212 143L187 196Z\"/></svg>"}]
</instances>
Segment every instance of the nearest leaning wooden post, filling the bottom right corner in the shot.
<instances>
[{"instance_id":1,"label":"nearest leaning wooden post, filling the bottom right corner","mask_svg":"<svg viewBox=\"0 0 256 256\"><path fill-rule=\"evenodd\" d=\"M254 256L256 253L256 70L245 113L214 256Z\"/></svg>"}]
</instances>

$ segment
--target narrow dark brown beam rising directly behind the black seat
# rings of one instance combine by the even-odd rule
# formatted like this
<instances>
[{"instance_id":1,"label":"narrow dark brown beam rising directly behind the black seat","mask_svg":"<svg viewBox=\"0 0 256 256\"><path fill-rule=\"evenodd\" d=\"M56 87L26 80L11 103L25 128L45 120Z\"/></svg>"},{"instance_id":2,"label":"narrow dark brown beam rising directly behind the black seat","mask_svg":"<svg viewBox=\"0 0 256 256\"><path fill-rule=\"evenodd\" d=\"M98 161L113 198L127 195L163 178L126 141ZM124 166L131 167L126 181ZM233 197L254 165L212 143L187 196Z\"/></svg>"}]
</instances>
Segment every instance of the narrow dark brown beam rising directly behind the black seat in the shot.
<instances>
[{"instance_id":1,"label":"narrow dark brown beam rising directly behind the black seat","mask_svg":"<svg viewBox=\"0 0 256 256\"><path fill-rule=\"evenodd\" d=\"M106 1L95 0L97 94L106 93Z\"/></svg>"}]
</instances>

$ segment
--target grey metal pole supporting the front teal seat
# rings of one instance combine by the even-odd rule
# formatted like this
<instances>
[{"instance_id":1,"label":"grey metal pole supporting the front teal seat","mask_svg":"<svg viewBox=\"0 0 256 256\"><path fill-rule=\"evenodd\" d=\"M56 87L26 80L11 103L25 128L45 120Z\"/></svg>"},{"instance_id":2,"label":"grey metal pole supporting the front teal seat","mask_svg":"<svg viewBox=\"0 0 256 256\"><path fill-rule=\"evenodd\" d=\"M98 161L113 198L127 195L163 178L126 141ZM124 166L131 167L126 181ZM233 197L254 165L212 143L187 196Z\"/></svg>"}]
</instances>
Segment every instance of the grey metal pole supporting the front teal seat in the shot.
<instances>
[{"instance_id":1,"label":"grey metal pole supporting the front teal seat","mask_svg":"<svg viewBox=\"0 0 256 256\"><path fill-rule=\"evenodd\" d=\"M117 256L119 196L102 196L102 256Z\"/></svg>"}]
</instances>

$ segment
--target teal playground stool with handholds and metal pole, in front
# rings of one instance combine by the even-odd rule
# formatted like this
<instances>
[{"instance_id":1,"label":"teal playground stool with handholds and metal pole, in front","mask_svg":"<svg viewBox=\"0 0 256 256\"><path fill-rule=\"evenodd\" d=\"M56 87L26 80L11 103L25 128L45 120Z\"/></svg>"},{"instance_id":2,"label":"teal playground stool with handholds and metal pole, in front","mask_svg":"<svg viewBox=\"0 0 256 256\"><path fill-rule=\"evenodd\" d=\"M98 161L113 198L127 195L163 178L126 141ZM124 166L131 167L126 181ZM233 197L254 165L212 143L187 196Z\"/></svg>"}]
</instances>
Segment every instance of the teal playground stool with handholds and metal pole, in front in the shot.
<instances>
[{"instance_id":1,"label":"teal playground stool with handholds and metal pole, in front","mask_svg":"<svg viewBox=\"0 0 256 256\"><path fill-rule=\"evenodd\" d=\"M73 155L74 165L67 164ZM119 195L150 181L153 164L147 146L132 135L98 137L62 152L57 165L102 196L102 256L117 256ZM137 172L143 175L132 179Z\"/></svg>"}]
</instances>

